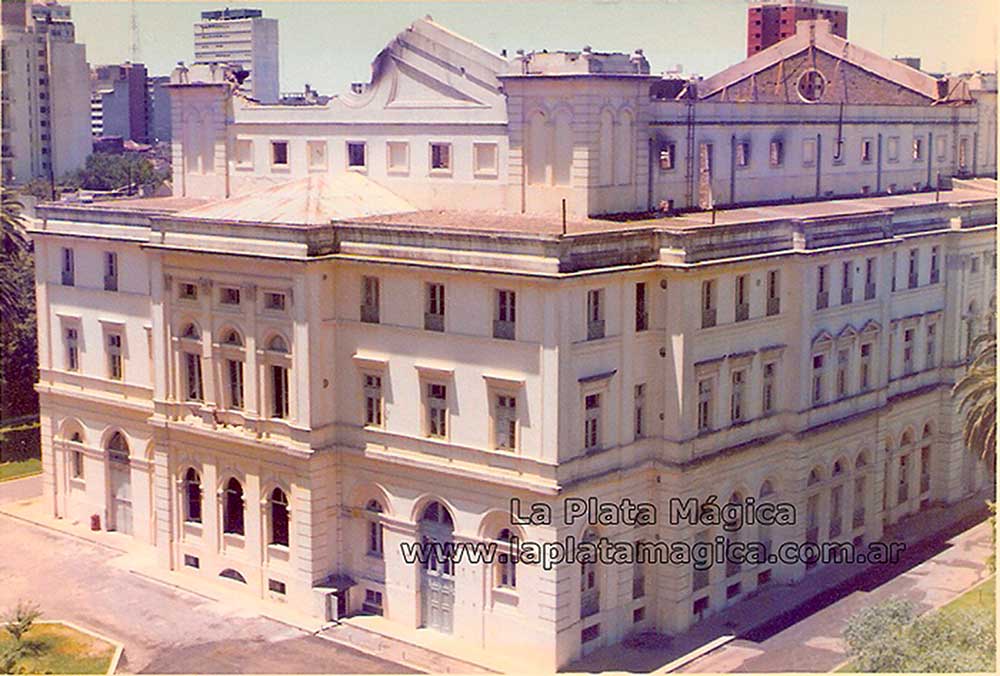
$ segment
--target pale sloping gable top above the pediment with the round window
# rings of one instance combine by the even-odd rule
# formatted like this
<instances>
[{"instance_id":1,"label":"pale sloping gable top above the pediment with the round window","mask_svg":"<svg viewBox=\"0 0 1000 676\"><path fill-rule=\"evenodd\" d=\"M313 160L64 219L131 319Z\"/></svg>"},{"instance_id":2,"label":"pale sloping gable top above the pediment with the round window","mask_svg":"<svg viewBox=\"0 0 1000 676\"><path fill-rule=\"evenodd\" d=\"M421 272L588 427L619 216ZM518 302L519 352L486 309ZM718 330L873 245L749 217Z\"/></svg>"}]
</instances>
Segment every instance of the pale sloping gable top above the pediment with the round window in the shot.
<instances>
[{"instance_id":1,"label":"pale sloping gable top above the pediment with the round window","mask_svg":"<svg viewBox=\"0 0 1000 676\"><path fill-rule=\"evenodd\" d=\"M830 31L830 22L826 19L797 22L797 30L794 35L699 83L698 95L702 98L711 96L811 47L826 52L836 59L843 59L851 65L905 87L932 101L954 97L954 94L951 96L941 95L937 78L834 35Z\"/></svg>"}]
</instances>

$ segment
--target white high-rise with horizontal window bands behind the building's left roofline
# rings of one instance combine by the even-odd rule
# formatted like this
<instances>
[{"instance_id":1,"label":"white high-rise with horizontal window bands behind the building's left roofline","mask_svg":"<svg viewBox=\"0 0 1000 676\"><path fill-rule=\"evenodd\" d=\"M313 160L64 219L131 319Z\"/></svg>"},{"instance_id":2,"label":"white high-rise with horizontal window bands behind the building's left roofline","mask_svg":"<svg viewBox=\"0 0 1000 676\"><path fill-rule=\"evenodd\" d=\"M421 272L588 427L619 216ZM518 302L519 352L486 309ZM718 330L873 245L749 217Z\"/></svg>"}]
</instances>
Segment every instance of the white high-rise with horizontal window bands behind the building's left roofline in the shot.
<instances>
[{"instance_id":1,"label":"white high-rise with horizontal window bands behind the building's left roofline","mask_svg":"<svg viewBox=\"0 0 1000 676\"><path fill-rule=\"evenodd\" d=\"M239 66L250 73L243 92L262 103L278 101L278 20L259 9L202 12L194 25L194 60Z\"/></svg>"}]
</instances>

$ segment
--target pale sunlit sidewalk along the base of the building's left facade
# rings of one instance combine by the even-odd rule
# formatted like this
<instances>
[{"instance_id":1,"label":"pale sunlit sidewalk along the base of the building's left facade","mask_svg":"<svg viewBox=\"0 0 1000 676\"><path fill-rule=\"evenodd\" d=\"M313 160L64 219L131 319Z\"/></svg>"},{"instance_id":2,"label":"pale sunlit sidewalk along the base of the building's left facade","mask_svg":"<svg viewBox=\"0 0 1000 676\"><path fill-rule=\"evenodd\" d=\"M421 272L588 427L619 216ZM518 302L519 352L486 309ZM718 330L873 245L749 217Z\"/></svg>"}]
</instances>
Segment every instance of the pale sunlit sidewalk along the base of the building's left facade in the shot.
<instances>
[{"instance_id":1,"label":"pale sunlit sidewalk along the base of the building's left facade","mask_svg":"<svg viewBox=\"0 0 1000 676\"><path fill-rule=\"evenodd\" d=\"M446 637L433 631L403 631L391 622L374 616L351 617L331 625L292 607L251 598L208 580L166 570L158 563L154 547L127 535L92 531L88 524L82 522L56 519L49 515L38 496L2 503L0 514L107 548L117 554L108 561L115 568L194 593L210 601L225 602L229 606L235 606L237 612L259 614L319 638L404 664L418 671L471 674L513 669L513 665L505 662L503 656L488 655L485 651L465 649L461 654L456 654L454 642L447 641Z\"/></svg>"}]
</instances>

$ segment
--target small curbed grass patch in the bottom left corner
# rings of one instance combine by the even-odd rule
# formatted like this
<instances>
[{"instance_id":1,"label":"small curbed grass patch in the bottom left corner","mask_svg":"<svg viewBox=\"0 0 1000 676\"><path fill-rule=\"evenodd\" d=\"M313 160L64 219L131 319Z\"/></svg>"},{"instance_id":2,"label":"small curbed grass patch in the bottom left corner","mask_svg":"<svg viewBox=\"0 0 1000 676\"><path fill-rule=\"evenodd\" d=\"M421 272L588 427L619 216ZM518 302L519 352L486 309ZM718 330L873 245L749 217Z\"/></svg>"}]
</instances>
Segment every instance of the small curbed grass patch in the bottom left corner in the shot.
<instances>
[{"instance_id":1,"label":"small curbed grass patch in the bottom left corner","mask_svg":"<svg viewBox=\"0 0 1000 676\"><path fill-rule=\"evenodd\" d=\"M29 674L104 674L111 665L115 647L63 624L36 624L24 636L34 643L38 654L18 665ZM0 637L0 651L10 642Z\"/></svg>"}]
</instances>

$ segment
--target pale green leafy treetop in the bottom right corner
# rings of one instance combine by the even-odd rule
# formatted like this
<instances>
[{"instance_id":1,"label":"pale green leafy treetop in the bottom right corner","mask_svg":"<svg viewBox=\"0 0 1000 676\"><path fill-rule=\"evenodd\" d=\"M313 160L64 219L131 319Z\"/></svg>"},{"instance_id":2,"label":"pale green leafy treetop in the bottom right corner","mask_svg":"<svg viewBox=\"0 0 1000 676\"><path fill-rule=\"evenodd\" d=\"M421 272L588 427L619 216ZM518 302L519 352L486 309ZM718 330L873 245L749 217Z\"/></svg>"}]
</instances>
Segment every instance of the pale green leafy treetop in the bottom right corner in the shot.
<instances>
[{"instance_id":1,"label":"pale green leafy treetop in the bottom right corner","mask_svg":"<svg viewBox=\"0 0 1000 676\"><path fill-rule=\"evenodd\" d=\"M914 619L912 603L892 599L864 608L847 621L844 641L859 672L992 672L993 616L938 611Z\"/></svg>"}]
</instances>

